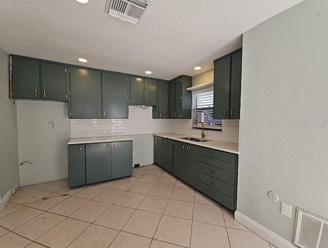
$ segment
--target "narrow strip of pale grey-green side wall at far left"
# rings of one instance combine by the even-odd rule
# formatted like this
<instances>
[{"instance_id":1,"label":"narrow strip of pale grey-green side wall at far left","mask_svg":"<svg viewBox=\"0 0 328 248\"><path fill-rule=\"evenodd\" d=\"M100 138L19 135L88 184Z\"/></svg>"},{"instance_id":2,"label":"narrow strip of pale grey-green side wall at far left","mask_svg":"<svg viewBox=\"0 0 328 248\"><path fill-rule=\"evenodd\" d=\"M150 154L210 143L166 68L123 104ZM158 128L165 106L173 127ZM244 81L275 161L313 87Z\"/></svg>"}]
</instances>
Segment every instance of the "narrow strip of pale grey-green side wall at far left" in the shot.
<instances>
[{"instance_id":1,"label":"narrow strip of pale grey-green side wall at far left","mask_svg":"<svg viewBox=\"0 0 328 248\"><path fill-rule=\"evenodd\" d=\"M9 99L8 72L8 54L0 48L0 206L8 191L19 186L17 114Z\"/></svg>"}]
</instances>

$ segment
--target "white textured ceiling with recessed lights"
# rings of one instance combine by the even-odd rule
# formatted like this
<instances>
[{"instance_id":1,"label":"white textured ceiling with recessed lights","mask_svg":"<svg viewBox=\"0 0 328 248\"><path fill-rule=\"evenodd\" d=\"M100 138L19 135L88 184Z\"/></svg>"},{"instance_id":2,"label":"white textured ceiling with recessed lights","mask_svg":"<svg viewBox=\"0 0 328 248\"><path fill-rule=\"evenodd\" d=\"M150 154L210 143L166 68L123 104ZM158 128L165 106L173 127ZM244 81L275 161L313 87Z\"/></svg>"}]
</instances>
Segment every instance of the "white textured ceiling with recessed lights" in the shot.
<instances>
[{"instance_id":1,"label":"white textured ceiling with recessed lights","mask_svg":"<svg viewBox=\"0 0 328 248\"><path fill-rule=\"evenodd\" d=\"M10 54L172 79L213 68L241 34L302 0L153 0L139 25L104 12L106 0L0 1L0 47ZM202 66L194 71L196 65Z\"/></svg>"}]
</instances>

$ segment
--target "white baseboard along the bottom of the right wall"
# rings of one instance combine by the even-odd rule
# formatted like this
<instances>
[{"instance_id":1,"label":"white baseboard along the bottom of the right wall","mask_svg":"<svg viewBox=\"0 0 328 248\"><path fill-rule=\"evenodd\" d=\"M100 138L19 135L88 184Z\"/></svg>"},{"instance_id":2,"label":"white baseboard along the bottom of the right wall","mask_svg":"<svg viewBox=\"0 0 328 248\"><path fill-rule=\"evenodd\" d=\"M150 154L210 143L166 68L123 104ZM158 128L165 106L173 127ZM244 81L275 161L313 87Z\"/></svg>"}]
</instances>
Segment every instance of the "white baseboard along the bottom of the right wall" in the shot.
<instances>
[{"instance_id":1,"label":"white baseboard along the bottom of the right wall","mask_svg":"<svg viewBox=\"0 0 328 248\"><path fill-rule=\"evenodd\" d=\"M267 240L269 243L273 244L277 248L297 248L290 241L284 239L278 234L272 232L271 230L261 226L259 223L255 222L254 220L247 217L246 215L243 215L240 212L235 212L235 220L243 224L243 226L247 227L261 238Z\"/></svg>"}]
</instances>

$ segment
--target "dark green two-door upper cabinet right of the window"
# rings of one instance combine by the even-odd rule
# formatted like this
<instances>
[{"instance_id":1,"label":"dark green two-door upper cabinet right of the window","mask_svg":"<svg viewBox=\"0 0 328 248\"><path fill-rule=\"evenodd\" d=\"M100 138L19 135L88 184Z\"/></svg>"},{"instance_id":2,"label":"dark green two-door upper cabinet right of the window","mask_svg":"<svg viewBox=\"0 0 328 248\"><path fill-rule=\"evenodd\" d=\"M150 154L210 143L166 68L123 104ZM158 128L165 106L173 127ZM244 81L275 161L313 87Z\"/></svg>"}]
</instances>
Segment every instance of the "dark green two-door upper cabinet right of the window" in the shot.
<instances>
[{"instance_id":1,"label":"dark green two-door upper cabinet right of the window","mask_svg":"<svg viewBox=\"0 0 328 248\"><path fill-rule=\"evenodd\" d=\"M241 49L214 61L214 119L240 119Z\"/></svg>"}]
</instances>

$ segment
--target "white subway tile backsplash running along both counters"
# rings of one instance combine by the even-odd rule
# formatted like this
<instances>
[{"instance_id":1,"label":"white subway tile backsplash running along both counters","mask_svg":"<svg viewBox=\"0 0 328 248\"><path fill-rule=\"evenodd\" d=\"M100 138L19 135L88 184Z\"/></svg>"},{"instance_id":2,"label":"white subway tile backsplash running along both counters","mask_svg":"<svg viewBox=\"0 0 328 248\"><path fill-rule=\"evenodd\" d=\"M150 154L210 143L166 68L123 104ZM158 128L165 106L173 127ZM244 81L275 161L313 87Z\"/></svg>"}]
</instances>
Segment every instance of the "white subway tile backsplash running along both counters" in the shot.
<instances>
[{"instance_id":1,"label":"white subway tile backsplash running along both counters","mask_svg":"<svg viewBox=\"0 0 328 248\"><path fill-rule=\"evenodd\" d=\"M200 137L192 120L152 119L152 107L129 106L129 119L71 119L71 138L175 132ZM207 139L238 143L239 120L223 120L222 131L205 130Z\"/></svg>"}]
</instances>

